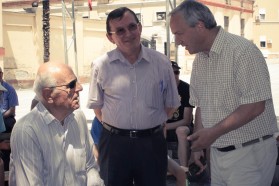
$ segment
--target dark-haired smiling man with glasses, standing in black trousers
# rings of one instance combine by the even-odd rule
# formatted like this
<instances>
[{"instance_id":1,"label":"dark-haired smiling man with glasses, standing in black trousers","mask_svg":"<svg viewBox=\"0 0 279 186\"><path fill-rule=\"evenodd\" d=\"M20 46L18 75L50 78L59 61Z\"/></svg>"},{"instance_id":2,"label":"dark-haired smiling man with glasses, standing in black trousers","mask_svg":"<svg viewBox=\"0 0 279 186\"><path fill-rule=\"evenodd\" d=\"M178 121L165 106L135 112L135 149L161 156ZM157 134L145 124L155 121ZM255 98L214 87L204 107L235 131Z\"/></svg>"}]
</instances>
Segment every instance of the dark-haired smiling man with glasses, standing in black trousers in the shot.
<instances>
[{"instance_id":1,"label":"dark-haired smiling man with glasses, standing in black trousers","mask_svg":"<svg viewBox=\"0 0 279 186\"><path fill-rule=\"evenodd\" d=\"M92 65L88 107L103 123L100 174L105 185L166 185L162 124L180 105L169 59L141 45L142 25L121 7L108 14L116 49Z\"/></svg>"}]
</instances>

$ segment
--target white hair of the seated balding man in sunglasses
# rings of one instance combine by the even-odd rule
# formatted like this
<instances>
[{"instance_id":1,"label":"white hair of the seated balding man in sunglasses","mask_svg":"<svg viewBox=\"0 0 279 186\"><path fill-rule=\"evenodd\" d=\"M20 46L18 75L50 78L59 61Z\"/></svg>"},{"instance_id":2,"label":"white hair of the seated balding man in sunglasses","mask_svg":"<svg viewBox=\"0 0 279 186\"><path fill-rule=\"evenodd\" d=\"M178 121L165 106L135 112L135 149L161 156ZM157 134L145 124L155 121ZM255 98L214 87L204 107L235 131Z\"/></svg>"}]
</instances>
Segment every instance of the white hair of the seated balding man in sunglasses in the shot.
<instances>
[{"instance_id":1,"label":"white hair of the seated balding man in sunglasses","mask_svg":"<svg viewBox=\"0 0 279 186\"><path fill-rule=\"evenodd\" d=\"M42 101L42 90L46 87L56 86L56 79L49 72L38 73L33 84L33 90L36 93L38 101Z\"/></svg>"}]
</instances>

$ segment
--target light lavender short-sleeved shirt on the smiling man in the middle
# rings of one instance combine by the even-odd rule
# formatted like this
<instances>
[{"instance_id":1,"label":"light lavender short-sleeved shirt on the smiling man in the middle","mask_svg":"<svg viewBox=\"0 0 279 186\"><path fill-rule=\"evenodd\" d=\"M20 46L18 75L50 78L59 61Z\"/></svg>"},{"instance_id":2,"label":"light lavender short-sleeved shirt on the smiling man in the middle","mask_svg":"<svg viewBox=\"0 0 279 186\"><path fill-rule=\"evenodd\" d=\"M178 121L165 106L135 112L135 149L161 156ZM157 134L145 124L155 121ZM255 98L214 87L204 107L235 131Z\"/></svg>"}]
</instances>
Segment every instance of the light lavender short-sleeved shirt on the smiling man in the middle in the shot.
<instances>
[{"instance_id":1,"label":"light lavender short-sleeved shirt on the smiling man in the middle","mask_svg":"<svg viewBox=\"0 0 279 186\"><path fill-rule=\"evenodd\" d=\"M167 57L141 47L135 64L118 49L92 65L88 108L101 108L102 120L121 129L147 129L167 120L166 107L180 105Z\"/></svg>"}]
</instances>

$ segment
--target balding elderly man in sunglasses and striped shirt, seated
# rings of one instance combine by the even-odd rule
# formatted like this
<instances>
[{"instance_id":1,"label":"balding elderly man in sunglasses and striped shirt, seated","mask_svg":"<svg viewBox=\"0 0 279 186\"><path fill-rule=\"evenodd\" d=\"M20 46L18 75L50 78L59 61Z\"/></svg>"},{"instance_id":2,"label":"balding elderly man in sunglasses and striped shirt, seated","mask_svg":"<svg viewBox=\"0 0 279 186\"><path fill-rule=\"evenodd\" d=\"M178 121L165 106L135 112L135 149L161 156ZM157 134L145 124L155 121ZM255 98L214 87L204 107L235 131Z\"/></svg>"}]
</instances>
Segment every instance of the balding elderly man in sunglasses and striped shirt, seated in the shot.
<instances>
[{"instance_id":1,"label":"balding elderly man in sunglasses and striped shirt, seated","mask_svg":"<svg viewBox=\"0 0 279 186\"><path fill-rule=\"evenodd\" d=\"M38 104L14 126L10 185L103 185L81 110L81 84L63 63L39 67Z\"/></svg>"}]
</instances>

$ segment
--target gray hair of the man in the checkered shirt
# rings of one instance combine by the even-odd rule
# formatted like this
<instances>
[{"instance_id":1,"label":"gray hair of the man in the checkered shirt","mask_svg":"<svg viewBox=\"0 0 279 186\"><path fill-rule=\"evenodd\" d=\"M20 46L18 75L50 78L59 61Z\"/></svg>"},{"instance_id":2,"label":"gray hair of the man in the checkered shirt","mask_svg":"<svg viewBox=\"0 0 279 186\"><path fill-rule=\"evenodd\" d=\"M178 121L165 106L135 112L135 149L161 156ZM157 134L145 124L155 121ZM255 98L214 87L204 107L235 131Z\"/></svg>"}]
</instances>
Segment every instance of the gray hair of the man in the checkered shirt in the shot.
<instances>
[{"instance_id":1,"label":"gray hair of the man in the checkered shirt","mask_svg":"<svg viewBox=\"0 0 279 186\"><path fill-rule=\"evenodd\" d=\"M207 6L194 0L185 0L170 12L170 16L182 13L186 23L195 27L199 21L204 23L205 28L212 29L217 26L212 12Z\"/></svg>"}]
</instances>

